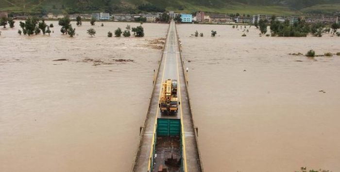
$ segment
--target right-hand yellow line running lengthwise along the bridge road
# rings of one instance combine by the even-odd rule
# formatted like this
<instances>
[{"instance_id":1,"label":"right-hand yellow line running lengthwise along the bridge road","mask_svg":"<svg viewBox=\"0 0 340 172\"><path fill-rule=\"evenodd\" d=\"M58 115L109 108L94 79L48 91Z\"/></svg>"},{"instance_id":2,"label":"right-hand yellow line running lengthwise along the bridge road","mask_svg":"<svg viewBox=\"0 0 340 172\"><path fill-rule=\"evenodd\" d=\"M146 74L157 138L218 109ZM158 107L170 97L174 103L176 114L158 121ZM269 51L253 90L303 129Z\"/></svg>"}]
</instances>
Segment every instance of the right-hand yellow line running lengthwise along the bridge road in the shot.
<instances>
[{"instance_id":1,"label":"right-hand yellow line running lengthwise along the bridge road","mask_svg":"<svg viewBox=\"0 0 340 172\"><path fill-rule=\"evenodd\" d=\"M177 39L177 35L175 35L175 38ZM177 40L176 40L177 41ZM177 42L175 41L175 45ZM180 84L180 78L179 78L179 69L178 69L178 56L176 52L176 62L177 62L177 78L178 78L178 94L179 94L179 101L182 102L181 99L181 84ZM181 62L182 63L182 62ZM184 172L187 172L187 153L186 153L186 140L185 140L185 132L184 132L184 127L183 127L183 113L182 113L182 103L180 104L180 114L181 114L181 130L182 130L182 144L183 144L183 159L184 159Z\"/></svg>"}]
</instances>

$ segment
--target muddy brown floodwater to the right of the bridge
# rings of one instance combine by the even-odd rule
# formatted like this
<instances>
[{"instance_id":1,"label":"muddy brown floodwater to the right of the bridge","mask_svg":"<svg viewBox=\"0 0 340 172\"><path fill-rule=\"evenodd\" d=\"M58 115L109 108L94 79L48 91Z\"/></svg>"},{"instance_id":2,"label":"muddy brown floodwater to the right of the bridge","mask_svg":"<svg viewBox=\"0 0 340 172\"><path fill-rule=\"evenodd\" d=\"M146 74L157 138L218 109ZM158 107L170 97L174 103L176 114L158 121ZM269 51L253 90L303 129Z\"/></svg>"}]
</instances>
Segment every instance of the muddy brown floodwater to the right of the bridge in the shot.
<instances>
[{"instance_id":1,"label":"muddy brown floodwater to the right of the bridge","mask_svg":"<svg viewBox=\"0 0 340 172\"><path fill-rule=\"evenodd\" d=\"M177 29L206 172L340 171L340 56L288 55L340 52L340 37L259 37L248 27L241 37L240 28L221 25ZM190 37L196 30L204 37Z\"/></svg>"}]
</instances>

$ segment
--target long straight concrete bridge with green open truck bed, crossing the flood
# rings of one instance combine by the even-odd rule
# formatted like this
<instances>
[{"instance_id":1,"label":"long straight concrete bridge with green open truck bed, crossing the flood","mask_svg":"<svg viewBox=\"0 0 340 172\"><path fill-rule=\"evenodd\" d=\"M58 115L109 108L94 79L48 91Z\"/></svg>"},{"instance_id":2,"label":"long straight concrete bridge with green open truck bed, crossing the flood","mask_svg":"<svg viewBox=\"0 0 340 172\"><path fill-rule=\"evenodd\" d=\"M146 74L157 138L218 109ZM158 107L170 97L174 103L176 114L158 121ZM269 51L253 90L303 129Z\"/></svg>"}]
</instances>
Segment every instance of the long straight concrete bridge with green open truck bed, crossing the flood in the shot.
<instances>
[{"instance_id":1,"label":"long straight concrete bridge with green open truck bed, crossing the flood","mask_svg":"<svg viewBox=\"0 0 340 172\"><path fill-rule=\"evenodd\" d=\"M133 172L203 172L197 145L197 133L190 109L184 62L179 50L174 21L170 22L166 44L155 71L153 93L144 126L140 128L140 143L133 162ZM160 112L162 82L176 79L178 112Z\"/></svg>"}]
</instances>

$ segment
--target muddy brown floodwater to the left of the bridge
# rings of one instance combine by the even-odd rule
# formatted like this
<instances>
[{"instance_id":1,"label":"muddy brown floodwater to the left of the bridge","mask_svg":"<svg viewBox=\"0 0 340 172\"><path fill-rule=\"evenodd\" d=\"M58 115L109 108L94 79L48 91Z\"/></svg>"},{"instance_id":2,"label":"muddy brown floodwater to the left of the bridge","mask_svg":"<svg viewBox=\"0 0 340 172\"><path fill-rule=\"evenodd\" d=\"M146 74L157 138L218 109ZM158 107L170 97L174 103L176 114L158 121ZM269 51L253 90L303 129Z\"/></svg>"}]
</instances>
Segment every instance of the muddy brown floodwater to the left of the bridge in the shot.
<instances>
[{"instance_id":1,"label":"muddy brown floodwater to the left of the bridge","mask_svg":"<svg viewBox=\"0 0 340 172\"><path fill-rule=\"evenodd\" d=\"M0 29L0 172L129 172L167 24L88 22L74 38ZM136 27L138 23L129 23Z\"/></svg>"}]
</instances>

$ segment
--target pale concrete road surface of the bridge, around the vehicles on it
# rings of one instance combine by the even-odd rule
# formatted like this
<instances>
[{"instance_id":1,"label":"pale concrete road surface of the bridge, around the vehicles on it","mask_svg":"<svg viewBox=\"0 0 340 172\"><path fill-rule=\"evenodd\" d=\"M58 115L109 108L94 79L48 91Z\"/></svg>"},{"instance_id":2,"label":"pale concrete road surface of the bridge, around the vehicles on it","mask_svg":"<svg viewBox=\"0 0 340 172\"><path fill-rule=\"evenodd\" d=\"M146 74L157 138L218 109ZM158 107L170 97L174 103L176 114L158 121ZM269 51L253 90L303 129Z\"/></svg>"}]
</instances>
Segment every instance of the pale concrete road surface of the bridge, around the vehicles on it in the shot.
<instances>
[{"instance_id":1,"label":"pale concrete road surface of the bridge, around the vehicles on it","mask_svg":"<svg viewBox=\"0 0 340 172\"><path fill-rule=\"evenodd\" d=\"M150 107L147 113L143 136L136 155L133 172L148 172L150 169L150 157L152 154L152 144L154 141L155 124L157 117L162 114L159 112L158 101L160 98L161 85L166 79L177 79L178 97L181 104L177 115L171 118L181 119L182 141L183 141L183 169L184 172L202 172L200 157L198 154L197 142L192 122L191 110L188 102L185 71L180 57L175 23L171 21L163 58L155 81L153 96L151 97Z\"/></svg>"}]
</instances>

